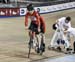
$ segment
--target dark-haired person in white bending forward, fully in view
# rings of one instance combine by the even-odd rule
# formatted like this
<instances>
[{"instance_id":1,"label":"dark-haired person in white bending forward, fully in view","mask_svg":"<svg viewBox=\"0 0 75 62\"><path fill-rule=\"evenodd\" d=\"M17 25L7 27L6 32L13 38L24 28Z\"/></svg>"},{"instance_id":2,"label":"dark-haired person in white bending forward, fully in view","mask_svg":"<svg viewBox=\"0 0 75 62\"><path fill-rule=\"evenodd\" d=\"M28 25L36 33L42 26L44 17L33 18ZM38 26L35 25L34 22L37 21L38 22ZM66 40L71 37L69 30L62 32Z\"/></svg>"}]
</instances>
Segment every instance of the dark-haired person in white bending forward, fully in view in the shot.
<instances>
[{"instance_id":1,"label":"dark-haired person in white bending forward, fully in view","mask_svg":"<svg viewBox=\"0 0 75 62\"><path fill-rule=\"evenodd\" d=\"M59 48L60 49L60 42L57 40L60 39L62 40L62 44L65 46L65 49L68 51L69 50L69 47L70 47L70 36L69 34L67 33L66 35L64 34L64 31L67 29L67 28L71 28L71 18L68 16L68 17L61 17L60 19L58 19L55 23L55 26L56 26L56 31L53 35L53 38L51 40L51 43L50 43L50 47L56 47L56 48Z\"/></svg>"}]
</instances>

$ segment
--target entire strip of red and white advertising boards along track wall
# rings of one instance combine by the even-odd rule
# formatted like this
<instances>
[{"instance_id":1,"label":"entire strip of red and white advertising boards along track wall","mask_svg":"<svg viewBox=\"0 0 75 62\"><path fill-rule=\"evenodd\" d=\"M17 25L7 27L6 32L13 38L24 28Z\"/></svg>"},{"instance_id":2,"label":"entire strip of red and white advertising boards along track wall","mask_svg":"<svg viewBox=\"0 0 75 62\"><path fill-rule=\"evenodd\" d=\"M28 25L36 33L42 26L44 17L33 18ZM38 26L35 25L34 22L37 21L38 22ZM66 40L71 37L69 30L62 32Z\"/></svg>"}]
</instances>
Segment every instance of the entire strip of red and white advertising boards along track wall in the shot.
<instances>
[{"instance_id":1,"label":"entire strip of red and white advertising boards along track wall","mask_svg":"<svg viewBox=\"0 0 75 62\"><path fill-rule=\"evenodd\" d=\"M39 10L40 13L48 13L69 8L75 8L75 2L35 7L35 10ZM26 8L0 8L0 16L24 16L26 14L26 10Z\"/></svg>"}]
</instances>

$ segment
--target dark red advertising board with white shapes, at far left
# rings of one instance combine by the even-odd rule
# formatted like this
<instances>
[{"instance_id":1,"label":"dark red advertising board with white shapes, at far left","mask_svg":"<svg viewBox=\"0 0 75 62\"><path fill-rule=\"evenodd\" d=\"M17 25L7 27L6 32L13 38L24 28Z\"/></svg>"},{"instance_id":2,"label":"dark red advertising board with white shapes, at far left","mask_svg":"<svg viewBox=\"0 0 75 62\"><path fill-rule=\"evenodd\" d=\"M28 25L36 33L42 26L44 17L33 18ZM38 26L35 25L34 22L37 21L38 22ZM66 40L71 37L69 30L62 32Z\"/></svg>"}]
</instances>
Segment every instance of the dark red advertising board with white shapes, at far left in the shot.
<instances>
[{"instance_id":1,"label":"dark red advertising board with white shapes, at far left","mask_svg":"<svg viewBox=\"0 0 75 62\"><path fill-rule=\"evenodd\" d=\"M0 8L0 16L19 16L19 8Z\"/></svg>"}]
</instances>

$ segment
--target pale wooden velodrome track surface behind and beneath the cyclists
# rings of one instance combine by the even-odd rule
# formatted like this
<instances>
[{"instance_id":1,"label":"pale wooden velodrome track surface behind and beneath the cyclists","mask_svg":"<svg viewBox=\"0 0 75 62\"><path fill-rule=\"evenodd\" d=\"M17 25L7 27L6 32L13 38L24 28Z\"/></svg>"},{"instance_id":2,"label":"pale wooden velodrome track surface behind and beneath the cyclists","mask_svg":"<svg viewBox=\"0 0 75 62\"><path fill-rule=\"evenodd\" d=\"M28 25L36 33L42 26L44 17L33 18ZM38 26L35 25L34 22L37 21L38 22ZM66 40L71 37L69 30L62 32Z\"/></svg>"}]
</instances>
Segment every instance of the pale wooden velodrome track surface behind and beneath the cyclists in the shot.
<instances>
[{"instance_id":1,"label":"pale wooden velodrome track surface behind and beneath the cyclists","mask_svg":"<svg viewBox=\"0 0 75 62\"><path fill-rule=\"evenodd\" d=\"M40 56L31 52L28 59L28 32L25 30L24 17L0 18L0 62L35 62L38 60L65 56L63 53L50 51L50 43L54 31L52 24L60 17L71 16L72 26L75 27L75 9L55 13L42 14L46 22L46 52Z\"/></svg>"}]
</instances>

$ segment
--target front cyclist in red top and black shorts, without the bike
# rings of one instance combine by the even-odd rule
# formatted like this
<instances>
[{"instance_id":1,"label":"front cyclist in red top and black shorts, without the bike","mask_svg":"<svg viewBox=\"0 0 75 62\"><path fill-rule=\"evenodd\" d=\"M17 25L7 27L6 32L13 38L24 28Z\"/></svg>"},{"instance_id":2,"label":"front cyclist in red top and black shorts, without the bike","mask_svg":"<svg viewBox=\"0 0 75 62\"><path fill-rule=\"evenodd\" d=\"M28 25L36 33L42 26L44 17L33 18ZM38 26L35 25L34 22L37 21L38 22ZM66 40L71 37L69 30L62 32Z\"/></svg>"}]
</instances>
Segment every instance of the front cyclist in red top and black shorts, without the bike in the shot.
<instances>
[{"instance_id":1,"label":"front cyclist in red top and black shorts, without the bike","mask_svg":"<svg viewBox=\"0 0 75 62\"><path fill-rule=\"evenodd\" d=\"M31 20L29 28L28 28L28 18L30 18ZM32 4L29 4L27 6L27 13L25 15L25 26L26 28L29 29L29 36L32 37L32 41L35 42L35 33L39 34L40 32L40 19L38 13L34 10ZM37 37L39 36L37 35ZM38 40L40 41L40 39Z\"/></svg>"}]
</instances>

